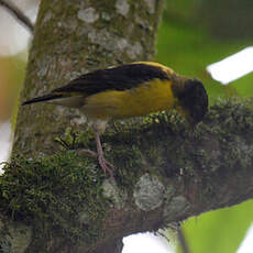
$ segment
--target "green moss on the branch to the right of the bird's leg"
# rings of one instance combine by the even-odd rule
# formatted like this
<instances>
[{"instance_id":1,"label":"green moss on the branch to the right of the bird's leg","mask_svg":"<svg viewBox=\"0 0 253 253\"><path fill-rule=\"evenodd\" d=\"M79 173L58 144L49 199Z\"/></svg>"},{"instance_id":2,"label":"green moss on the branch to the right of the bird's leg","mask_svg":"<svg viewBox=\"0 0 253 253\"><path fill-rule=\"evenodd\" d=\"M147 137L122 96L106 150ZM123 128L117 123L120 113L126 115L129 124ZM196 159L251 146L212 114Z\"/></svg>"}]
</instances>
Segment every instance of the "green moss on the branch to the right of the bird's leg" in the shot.
<instances>
[{"instance_id":1,"label":"green moss on the branch to the right of the bird's leg","mask_svg":"<svg viewBox=\"0 0 253 253\"><path fill-rule=\"evenodd\" d=\"M127 186L146 170L169 177L183 173L190 179L196 169L209 175L249 166L252 113L252 100L221 100L194 133L177 113L160 112L136 119L138 123L116 122L103 140L113 148L108 156L122 168L122 178L129 176Z\"/></svg>"}]
</instances>

